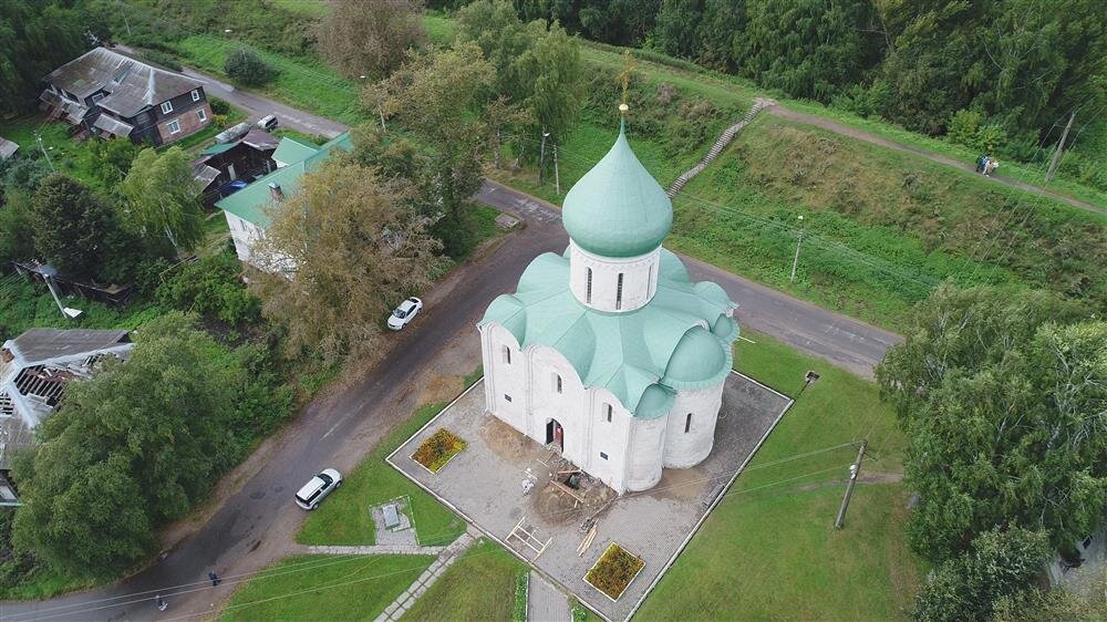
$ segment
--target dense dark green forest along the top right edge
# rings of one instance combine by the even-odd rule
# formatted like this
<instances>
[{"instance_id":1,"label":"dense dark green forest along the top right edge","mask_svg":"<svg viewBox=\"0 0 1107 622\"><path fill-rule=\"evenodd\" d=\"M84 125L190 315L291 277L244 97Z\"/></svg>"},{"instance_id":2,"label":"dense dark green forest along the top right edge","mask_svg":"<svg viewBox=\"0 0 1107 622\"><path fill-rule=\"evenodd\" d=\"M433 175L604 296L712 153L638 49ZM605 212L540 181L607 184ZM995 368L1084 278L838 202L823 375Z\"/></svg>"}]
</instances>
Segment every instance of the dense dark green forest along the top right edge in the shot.
<instances>
[{"instance_id":1,"label":"dense dark green forest along the top right edge","mask_svg":"<svg viewBox=\"0 0 1107 622\"><path fill-rule=\"evenodd\" d=\"M431 1L455 8L457 0ZM599 42L654 50L763 87L1028 162L1070 114L1099 153L1100 0L515 0ZM1098 158L1096 158L1098 159ZM1107 187L1098 164L1084 183Z\"/></svg>"}]
</instances>

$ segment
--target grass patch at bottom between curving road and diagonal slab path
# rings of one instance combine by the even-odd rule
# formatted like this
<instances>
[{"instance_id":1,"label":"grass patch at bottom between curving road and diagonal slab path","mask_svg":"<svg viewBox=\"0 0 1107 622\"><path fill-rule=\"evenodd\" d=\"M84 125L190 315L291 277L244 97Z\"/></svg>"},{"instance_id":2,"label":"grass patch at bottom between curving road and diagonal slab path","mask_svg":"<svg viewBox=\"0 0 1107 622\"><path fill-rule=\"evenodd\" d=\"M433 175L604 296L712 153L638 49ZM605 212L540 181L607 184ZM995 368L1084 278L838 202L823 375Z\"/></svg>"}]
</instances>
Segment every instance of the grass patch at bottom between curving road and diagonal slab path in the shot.
<instances>
[{"instance_id":1,"label":"grass patch at bottom between curving road and diagonal slab path","mask_svg":"<svg viewBox=\"0 0 1107 622\"><path fill-rule=\"evenodd\" d=\"M432 556L286 558L239 588L219 620L371 621L433 561Z\"/></svg>"}]
</instances>

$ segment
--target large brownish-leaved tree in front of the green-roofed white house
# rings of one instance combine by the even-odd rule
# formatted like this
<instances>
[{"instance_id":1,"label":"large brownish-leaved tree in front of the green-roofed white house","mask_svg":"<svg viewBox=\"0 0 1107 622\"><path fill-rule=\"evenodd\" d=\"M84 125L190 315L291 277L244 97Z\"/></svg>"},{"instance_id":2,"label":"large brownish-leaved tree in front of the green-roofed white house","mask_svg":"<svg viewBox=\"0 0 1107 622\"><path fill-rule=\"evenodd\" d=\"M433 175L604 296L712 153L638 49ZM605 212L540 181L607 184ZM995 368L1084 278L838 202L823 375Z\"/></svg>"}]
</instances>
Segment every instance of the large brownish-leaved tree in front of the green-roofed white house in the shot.
<instances>
[{"instance_id":1,"label":"large brownish-leaved tree in front of the green-roofed white house","mask_svg":"<svg viewBox=\"0 0 1107 622\"><path fill-rule=\"evenodd\" d=\"M389 312L442 268L430 220L373 168L331 160L270 211L250 278L261 312L287 326L290 356L370 356Z\"/></svg>"}]
</instances>

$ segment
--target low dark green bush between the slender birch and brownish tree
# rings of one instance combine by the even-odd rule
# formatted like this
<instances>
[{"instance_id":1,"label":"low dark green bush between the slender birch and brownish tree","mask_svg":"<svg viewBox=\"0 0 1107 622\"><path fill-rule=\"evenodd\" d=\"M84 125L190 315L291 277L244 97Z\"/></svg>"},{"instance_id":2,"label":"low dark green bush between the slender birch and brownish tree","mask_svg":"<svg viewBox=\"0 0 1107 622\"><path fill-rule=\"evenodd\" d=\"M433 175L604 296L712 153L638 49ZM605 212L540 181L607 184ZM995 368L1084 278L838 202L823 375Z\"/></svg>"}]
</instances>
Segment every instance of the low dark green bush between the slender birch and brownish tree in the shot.
<instances>
[{"instance_id":1,"label":"low dark green bush between the slender birch and brownish tree","mask_svg":"<svg viewBox=\"0 0 1107 622\"><path fill-rule=\"evenodd\" d=\"M228 324L252 322L260 303L239 281L241 267L234 256L220 252L182 266L157 287L161 304L195 311Z\"/></svg>"}]
</instances>

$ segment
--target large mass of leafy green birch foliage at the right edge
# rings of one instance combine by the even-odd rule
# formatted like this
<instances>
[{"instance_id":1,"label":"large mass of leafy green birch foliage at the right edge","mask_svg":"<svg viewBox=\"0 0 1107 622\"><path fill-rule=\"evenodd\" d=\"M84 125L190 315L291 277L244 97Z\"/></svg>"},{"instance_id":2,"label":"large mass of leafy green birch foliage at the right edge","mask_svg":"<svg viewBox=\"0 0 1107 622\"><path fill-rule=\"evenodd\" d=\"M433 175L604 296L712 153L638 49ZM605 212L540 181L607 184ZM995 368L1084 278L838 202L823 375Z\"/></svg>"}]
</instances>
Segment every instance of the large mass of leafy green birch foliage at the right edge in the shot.
<instances>
[{"instance_id":1,"label":"large mass of leafy green birch foliage at the right edge","mask_svg":"<svg viewBox=\"0 0 1107 622\"><path fill-rule=\"evenodd\" d=\"M933 560L1000 527L1062 552L1107 507L1107 322L1044 292L942 288L877 370L920 495L908 535Z\"/></svg>"}]
</instances>

